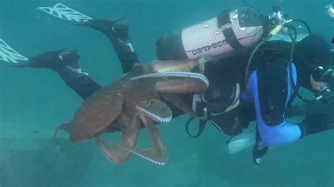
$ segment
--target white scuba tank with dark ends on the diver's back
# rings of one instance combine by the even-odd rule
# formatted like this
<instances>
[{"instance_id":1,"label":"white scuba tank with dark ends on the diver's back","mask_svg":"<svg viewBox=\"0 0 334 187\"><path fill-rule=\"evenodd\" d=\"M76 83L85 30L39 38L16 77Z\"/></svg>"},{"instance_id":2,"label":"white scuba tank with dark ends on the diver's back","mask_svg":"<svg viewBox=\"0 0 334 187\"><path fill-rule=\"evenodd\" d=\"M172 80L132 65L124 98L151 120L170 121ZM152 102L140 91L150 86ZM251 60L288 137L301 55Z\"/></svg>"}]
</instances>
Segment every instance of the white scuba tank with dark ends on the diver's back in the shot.
<instances>
[{"instance_id":1,"label":"white scuba tank with dark ends on the diver's back","mask_svg":"<svg viewBox=\"0 0 334 187\"><path fill-rule=\"evenodd\" d=\"M266 34L266 18L254 8L224 11L183 30L165 34L156 41L159 60L185 60L204 55L221 56L252 46Z\"/></svg>"}]
</instances>

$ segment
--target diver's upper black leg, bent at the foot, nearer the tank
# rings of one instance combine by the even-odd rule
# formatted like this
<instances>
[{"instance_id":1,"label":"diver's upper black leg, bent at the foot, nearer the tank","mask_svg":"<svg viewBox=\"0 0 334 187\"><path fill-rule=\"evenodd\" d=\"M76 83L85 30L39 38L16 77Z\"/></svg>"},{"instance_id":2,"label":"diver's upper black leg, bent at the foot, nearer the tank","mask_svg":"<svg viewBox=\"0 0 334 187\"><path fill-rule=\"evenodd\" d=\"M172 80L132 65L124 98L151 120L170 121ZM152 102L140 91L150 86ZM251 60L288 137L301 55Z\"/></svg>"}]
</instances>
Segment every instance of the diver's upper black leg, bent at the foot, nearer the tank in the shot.
<instances>
[{"instance_id":1,"label":"diver's upper black leg, bent at the foot, nearer the tank","mask_svg":"<svg viewBox=\"0 0 334 187\"><path fill-rule=\"evenodd\" d=\"M106 34L106 37L110 39L113 50L117 53L120 65L122 65L123 73L129 72L135 63L140 63L128 36L129 25L127 22L89 20L87 25Z\"/></svg>"}]
</instances>

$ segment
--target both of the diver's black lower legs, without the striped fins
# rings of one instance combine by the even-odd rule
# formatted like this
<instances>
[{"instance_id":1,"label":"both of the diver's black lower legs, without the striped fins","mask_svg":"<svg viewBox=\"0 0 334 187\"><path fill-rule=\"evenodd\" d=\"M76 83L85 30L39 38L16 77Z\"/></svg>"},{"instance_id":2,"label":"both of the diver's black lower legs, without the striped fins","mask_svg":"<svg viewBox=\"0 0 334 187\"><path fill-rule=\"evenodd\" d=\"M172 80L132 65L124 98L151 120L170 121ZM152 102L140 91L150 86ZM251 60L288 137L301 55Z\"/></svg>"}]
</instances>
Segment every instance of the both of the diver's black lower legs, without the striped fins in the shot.
<instances>
[{"instance_id":1,"label":"both of the diver's black lower legs, without the striped fins","mask_svg":"<svg viewBox=\"0 0 334 187\"><path fill-rule=\"evenodd\" d=\"M128 24L112 20L89 20L87 26L106 34L113 44L122 66L123 73L130 71L132 65L140 63L128 37ZM79 56L75 50L50 51L30 58L29 67L44 67L55 70L63 81L82 99L89 97L101 85L94 82L78 64Z\"/></svg>"}]
</instances>

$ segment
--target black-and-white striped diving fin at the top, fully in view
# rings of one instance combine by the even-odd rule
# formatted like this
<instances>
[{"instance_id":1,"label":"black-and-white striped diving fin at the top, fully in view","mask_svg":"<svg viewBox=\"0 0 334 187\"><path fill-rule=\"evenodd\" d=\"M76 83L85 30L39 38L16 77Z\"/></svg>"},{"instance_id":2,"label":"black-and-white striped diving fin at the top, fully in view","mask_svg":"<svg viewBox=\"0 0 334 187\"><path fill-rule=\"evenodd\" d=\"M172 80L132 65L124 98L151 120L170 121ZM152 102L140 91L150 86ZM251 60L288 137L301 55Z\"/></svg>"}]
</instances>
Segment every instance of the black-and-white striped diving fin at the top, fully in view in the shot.
<instances>
[{"instance_id":1,"label":"black-and-white striped diving fin at the top, fully in view","mask_svg":"<svg viewBox=\"0 0 334 187\"><path fill-rule=\"evenodd\" d=\"M52 18L74 25L85 25L85 22L93 19L88 15L75 11L73 8L60 3L53 7L38 7L37 10L47 13L47 15Z\"/></svg>"}]
</instances>

